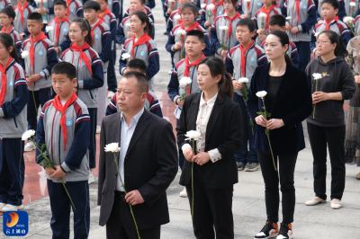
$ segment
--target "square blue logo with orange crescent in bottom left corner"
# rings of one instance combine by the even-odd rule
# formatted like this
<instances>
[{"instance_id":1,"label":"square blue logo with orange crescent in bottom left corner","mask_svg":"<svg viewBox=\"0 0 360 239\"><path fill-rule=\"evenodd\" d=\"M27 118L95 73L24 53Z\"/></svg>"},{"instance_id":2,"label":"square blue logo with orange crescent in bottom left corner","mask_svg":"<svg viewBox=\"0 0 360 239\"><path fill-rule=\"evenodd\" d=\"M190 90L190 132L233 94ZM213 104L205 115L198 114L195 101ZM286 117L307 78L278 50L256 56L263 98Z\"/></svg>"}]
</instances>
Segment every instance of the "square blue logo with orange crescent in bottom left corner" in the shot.
<instances>
[{"instance_id":1,"label":"square blue logo with orange crescent in bottom left corner","mask_svg":"<svg viewBox=\"0 0 360 239\"><path fill-rule=\"evenodd\" d=\"M23 236L29 232L29 215L25 211L5 212L3 232L6 236Z\"/></svg>"}]
</instances>

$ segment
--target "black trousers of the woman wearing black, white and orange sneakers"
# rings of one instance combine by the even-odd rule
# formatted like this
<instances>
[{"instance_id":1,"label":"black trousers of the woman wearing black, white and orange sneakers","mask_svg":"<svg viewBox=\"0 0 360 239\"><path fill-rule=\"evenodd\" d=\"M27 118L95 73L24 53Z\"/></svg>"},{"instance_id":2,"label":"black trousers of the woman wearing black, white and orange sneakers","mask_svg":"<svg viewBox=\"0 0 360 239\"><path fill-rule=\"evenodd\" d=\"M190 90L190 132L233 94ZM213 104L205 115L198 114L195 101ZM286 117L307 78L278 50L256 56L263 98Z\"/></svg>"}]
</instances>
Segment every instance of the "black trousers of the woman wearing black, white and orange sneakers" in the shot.
<instances>
[{"instance_id":1,"label":"black trousers of the woman wearing black, white and orange sneakers","mask_svg":"<svg viewBox=\"0 0 360 239\"><path fill-rule=\"evenodd\" d=\"M279 178L280 190L282 191L283 222L293 223L295 210L295 187L293 186L293 172L298 154L274 155L276 170L272 155L266 155L257 151L257 157L261 166L261 173L265 182L266 215L271 222L279 221ZM277 164L279 161L279 164Z\"/></svg>"}]
</instances>

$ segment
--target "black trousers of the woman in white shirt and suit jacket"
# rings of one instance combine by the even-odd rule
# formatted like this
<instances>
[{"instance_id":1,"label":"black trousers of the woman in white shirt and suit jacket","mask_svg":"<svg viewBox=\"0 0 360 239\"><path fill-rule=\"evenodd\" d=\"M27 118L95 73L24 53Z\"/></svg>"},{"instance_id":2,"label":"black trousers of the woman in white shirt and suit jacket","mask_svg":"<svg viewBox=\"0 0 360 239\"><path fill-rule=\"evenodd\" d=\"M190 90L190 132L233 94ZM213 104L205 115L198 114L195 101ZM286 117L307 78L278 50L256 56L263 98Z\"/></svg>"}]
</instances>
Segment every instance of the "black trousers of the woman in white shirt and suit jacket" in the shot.
<instances>
[{"instance_id":1,"label":"black trousers of the woman in white shirt and suit jacket","mask_svg":"<svg viewBox=\"0 0 360 239\"><path fill-rule=\"evenodd\" d=\"M193 191L191 182L186 186L190 209L193 199L193 233L197 239L214 239L215 235L220 239L234 238L232 217L234 186L210 189L203 180L202 170L202 166L193 164Z\"/></svg>"}]
</instances>

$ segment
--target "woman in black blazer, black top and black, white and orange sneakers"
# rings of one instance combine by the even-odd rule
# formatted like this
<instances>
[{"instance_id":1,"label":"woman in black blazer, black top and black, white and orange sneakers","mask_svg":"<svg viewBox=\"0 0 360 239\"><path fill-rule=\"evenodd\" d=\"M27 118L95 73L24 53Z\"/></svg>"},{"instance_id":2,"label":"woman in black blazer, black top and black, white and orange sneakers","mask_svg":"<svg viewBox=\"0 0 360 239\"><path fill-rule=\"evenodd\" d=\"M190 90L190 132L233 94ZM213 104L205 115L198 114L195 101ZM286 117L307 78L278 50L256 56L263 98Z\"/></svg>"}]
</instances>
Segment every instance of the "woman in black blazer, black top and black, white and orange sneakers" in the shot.
<instances>
[{"instance_id":1,"label":"woman in black blazer, black top and black, white and orange sneakers","mask_svg":"<svg viewBox=\"0 0 360 239\"><path fill-rule=\"evenodd\" d=\"M257 156L266 188L266 226L255 238L293 238L293 212L295 208L295 188L293 173L298 152L305 147L302 120L312 111L311 92L307 76L302 70L292 66L286 54L289 37L284 31L272 31L266 37L266 57L271 63L258 66L250 84L247 107L255 126L253 146ZM258 116L263 110L263 102L256 93L266 91L266 111L271 117ZM265 129L270 129L270 142L274 153L273 163ZM278 160L277 160L278 158ZM277 166L277 161L279 164ZM280 179L279 179L280 175ZM283 223L280 230L279 220L279 181L283 194Z\"/></svg>"}]
</instances>

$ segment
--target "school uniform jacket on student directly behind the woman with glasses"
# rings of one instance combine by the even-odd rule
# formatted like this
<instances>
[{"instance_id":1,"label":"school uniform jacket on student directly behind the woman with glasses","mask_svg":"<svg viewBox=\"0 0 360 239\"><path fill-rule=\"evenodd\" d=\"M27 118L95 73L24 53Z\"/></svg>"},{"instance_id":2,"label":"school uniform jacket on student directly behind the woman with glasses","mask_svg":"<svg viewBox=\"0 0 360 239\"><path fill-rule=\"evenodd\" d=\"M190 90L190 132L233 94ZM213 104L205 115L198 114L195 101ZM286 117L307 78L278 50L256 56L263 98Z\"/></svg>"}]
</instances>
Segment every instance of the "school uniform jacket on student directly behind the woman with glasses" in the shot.
<instances>
[{"instance_id":1,"label":"school uniform jacket on student directly behind the woman with glasses","mask_svg":"<svg viewBox=\"0 0 360 239\"><path fill-rule=\"evenodd\" d=\"M311 42L310 42L310 49L315 53L316 51L316 45L315 41L317 38L315 37L316 33L320 33L322 31L325 31L326 23L322 22L315 26L314 30L311 34ZM347 47L347 42L351 39L350 31L347 28L347 24L341 21L333 20L329 24L329 30L335 31L344 41L345 48Z\"/></svg>"}]
</instances>

